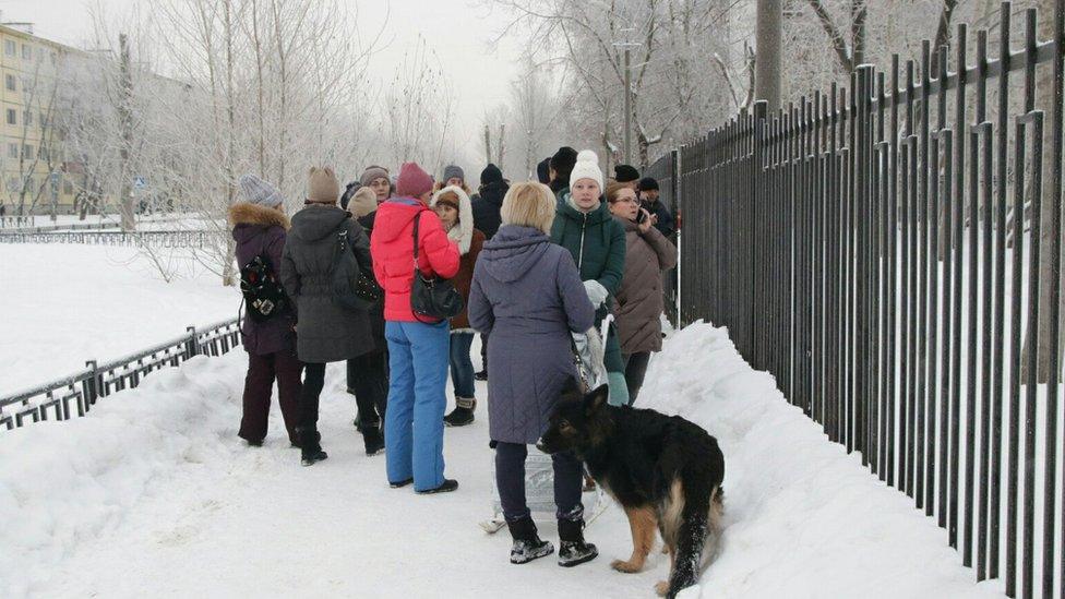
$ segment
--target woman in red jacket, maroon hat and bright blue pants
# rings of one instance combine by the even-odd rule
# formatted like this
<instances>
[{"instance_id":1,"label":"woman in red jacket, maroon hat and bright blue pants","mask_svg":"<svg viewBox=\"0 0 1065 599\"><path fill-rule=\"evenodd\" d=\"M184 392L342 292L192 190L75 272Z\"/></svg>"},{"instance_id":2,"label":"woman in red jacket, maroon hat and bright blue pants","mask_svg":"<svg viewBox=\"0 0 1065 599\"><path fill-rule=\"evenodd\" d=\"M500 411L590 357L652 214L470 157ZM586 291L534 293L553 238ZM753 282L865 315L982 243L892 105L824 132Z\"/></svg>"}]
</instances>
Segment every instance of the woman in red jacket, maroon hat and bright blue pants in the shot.
<instances>
[{"instance_id":1,"label":"woman in red jacket, maroon hat and bright blue pants","mask_svg":"<svg viewBox=\"0 0 1065 599\"><path fill-rule=\"evenodd\" d=\"M422 322L410 306L416 269L423 277L451 278L458 273L458 245L429 209L431 192L432 178L417 164L404 164L396 196L378 208L371 244L374 274L385 291L391 371L385 415L388 482L394 488L412 482L419 493L458 488L458 482L444 478L447 321Z\"/></svg>"}]
</instances>

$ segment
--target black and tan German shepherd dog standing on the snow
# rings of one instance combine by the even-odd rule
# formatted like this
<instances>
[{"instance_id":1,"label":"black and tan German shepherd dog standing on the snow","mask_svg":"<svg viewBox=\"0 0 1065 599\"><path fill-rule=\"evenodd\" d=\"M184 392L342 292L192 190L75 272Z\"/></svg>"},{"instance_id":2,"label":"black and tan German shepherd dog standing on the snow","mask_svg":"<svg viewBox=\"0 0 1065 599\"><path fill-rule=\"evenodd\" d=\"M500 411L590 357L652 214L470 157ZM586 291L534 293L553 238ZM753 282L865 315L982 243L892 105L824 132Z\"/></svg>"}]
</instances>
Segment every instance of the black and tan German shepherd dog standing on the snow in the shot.
<instances>
[{"instance_id":1,"label":"black and tan German shepherd dog standing on the snow","mask_svg":"<svg viewBox=\"0 0 1065 599\"><path fill-rule=\"evenodd\" d=\"M701 427L650 409L607 404L606 385L584 394L567 384L537 447L573 451L597 483L621 503L632 527L633 553L611 565L639 572L657 525L670 554L666 597L698 582L717 552L723 512L725 456Z\"/></svg>"}]
</instances>

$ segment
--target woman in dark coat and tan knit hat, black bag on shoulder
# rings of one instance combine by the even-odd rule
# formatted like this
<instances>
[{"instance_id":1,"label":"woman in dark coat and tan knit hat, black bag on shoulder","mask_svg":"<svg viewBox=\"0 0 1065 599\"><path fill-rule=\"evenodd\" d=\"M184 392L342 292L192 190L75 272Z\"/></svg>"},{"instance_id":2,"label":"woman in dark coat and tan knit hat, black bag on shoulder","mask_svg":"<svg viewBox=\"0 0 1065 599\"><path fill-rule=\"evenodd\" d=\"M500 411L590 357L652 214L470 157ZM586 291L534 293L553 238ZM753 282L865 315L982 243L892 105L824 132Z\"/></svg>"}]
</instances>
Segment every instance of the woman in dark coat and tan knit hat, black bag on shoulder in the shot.
<instances>
[{"instance_id":1,"label":"woman in dark coat and tan knit hat, black bag on shoulder","mask_svg":"<svg viewBox=\"0 0 1065 599\"><path fill-rule=\"evenodd\" d=\"M297 349L306 364L298 429L304 466L328 457L318 431L325 364L373 350L367 312L345 309L333 300L333 263L342 233L360 268L372 268L370 241L351 215L336 205L339 195L332 168L311 168L306 207L292 216L282 256L282 281L296 302Z\"/></svg>"}]
</instances>

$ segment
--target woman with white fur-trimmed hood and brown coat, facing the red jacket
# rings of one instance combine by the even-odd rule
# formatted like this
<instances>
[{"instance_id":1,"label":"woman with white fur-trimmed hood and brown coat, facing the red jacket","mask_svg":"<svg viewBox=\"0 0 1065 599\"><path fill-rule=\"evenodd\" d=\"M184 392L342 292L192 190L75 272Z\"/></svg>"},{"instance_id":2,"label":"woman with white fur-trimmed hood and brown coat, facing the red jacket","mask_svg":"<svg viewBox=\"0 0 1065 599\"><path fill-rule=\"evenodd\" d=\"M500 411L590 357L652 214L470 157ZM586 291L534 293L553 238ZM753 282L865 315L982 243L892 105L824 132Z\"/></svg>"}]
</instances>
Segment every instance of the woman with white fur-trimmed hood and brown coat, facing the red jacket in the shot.
<instances>
[{"instance_id":1,"label":"woman with white fur-trimmed hood and brown coat, facing the red jacket","mask_svg":"<svg viewBox=\"0 0 1065 599\"><path fill-rule=\"evenodd\" d=\"M484 233L474 228L474 213L469 193L460 187L448 185L436 191L429 203L440 216L447 237L458 243L458 274L452 278L455 289L469 303L469 286L474 278L474 265L484 245ZM463 427L474 421L477 399L474 397L474 362L469 348L474 343L474 330L469 326L466 308L451 319L451 378L455 385L455 409L444 417L448 427Z\"/></svg>"}]
</instances>

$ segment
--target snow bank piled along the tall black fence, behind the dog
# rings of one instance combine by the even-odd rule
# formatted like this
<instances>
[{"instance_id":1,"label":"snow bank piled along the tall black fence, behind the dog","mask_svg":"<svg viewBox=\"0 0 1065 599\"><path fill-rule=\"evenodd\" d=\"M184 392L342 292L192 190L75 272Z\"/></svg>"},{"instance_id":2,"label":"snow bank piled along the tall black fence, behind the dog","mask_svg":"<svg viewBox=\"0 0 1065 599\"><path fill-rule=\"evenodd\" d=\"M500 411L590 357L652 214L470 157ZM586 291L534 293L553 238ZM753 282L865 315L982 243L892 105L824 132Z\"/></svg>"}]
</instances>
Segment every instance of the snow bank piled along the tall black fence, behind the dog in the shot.
<instances>
[{"instance_id":1,"label":"snow bank piled along the tall black fence, behind the dog","mask_svg":"<svg viewBox=\"0 0 1065 599\"><path fill-rule=\"evenodd\" d=\"M639 404L703 426L725 452L727 528L703 597L1001 596L997 580L976 584L944 530L754 372L726 330L673 335Z\"/></svg>"}]
</instances>

